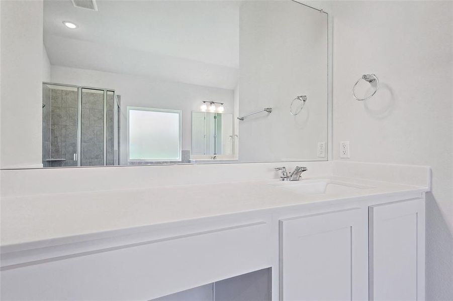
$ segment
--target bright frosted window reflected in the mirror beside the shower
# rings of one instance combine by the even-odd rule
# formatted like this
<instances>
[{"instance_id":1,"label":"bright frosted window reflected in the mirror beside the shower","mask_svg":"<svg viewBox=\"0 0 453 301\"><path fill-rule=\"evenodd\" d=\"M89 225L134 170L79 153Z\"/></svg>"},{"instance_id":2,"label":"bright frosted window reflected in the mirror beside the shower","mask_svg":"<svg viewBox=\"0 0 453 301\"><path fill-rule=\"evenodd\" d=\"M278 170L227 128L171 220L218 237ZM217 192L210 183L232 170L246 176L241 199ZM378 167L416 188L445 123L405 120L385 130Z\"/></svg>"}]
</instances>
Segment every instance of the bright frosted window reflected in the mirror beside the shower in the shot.
<instances>
[{"instance_id":1,"label":"bright frosted window reflected in the mirror beside the shower","mask_svg":"<svg viewBox=\"0 0 453 301\"><path fill-rule=\"evenodd\" d=\"M129 160L180 161L181 113L128 107Z\"/></svg>"}]
</instances>

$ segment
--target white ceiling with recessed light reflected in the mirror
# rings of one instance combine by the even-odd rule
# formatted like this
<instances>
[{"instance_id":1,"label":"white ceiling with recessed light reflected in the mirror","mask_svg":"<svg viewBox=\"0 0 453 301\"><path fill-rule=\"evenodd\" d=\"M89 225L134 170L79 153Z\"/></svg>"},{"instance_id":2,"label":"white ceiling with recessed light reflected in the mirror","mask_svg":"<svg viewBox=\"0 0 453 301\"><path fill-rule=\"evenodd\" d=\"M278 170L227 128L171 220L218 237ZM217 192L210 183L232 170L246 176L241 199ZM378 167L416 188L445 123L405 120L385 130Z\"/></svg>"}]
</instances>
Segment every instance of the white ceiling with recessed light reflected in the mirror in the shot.
<instances>
[{"instance_id":1,"label":"white ceiling with recessed light reflected in the mirror","mask_svg":"<svg viewBox=\"0 0 453 301\"><path fill-rule=\"evenodd\" d=\"M52 65L234 89L239 1L44 1ZM78 26L71 30L62 22Z\"/></svg>"}]
</instances>

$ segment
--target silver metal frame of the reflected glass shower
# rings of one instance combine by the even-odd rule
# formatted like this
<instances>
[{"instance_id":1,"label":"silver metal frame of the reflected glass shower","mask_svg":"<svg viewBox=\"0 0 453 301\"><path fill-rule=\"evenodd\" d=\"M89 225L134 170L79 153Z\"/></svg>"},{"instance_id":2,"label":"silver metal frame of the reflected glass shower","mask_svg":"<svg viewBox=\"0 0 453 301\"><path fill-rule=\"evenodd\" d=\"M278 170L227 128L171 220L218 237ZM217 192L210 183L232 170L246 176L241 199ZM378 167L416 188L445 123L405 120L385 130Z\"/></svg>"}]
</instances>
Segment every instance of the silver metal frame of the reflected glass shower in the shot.
<instances>
[{"instance_id":1,"label":"silver metal frame of the reflected glass shower","mask_svg":"<svg viewBox=\"0 0 453 301\"><path fill-rule=\"evenodd\" d=\"M115 89L108 89L108 88L98 88L98 87L88 87L88 86L78 86L78 85L68 85L68 84L61 84L61 83L52 83L52 82L43 82L43 85L53 85L53 86L61 86L61 87L71 87L77 88L77 167L81 167L81 158L82 158L82 89L89 89L89 90L98 90L104 91L104 125L103 125L103 166L107 166L107 92L113 92L113 99L114 104L118 106L118 111L121 111L121 106L118 102L117 94ZM120 115L118 116L118 141L120 141L120 134L121 134L121 122L120 122ZM115 120L115 115L114 115ZM115 126L114 126L115 128ZM118 143L119 144L119 143ZM115 146L114 146L115 147ZM115 156L115 148L113 152ZM120 165L120 147L118 145L118 165ZM115 159L114 159L115 166Z\"/></svg>"}]
</instances>

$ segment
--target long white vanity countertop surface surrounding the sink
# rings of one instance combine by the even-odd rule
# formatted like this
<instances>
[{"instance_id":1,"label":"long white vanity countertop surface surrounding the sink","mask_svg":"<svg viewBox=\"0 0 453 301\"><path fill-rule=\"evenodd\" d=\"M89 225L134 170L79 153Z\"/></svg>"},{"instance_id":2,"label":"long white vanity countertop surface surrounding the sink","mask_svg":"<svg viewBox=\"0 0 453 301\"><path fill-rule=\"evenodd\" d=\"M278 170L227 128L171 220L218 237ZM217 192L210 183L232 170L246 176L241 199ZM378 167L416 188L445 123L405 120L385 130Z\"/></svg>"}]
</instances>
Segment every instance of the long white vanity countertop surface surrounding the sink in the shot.
<instances>
[{"instance_id":1,"label":"long white vanity countertop surface surrounding the sink","mask_svg":"<svg viewBox=\"0 0 453 301\"><path fill-rule=\"evenodd\" d=\"M276 207L428 191L426 187L369 180L320 179L372 188L302 195L275 186L278 180L267 180L4 197L1 246Z\"/></svg>"}]
</instances>

